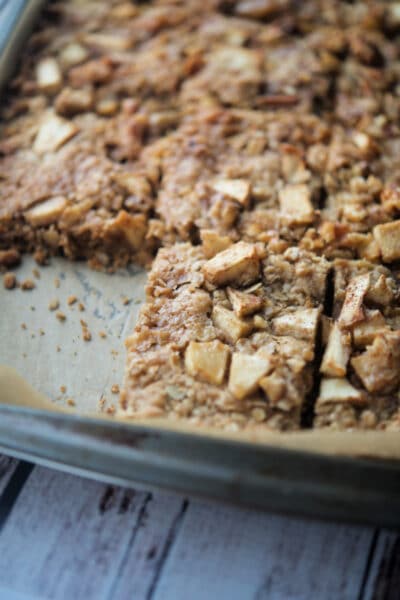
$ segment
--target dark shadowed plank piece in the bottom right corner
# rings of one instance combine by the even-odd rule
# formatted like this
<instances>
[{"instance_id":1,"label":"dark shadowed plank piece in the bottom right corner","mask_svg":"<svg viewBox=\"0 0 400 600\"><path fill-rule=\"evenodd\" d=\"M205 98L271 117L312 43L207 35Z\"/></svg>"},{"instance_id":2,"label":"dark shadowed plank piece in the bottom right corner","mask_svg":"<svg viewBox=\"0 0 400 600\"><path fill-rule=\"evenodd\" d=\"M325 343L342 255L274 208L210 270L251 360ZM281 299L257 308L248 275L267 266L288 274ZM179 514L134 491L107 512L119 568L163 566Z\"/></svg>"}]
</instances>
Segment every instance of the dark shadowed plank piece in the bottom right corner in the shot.
<instances>
[{"instance_id":1,"label":"dark shadowed plank piece in the bottom right corner","mask_svg":"<svg viewBox=\"0 0 400 600\"><path fill-rule=\"evenodd\" d=\"M382 530L378 534L361 600L398 600L399 590L400 534Z\"/></svg>"}]
</instances>

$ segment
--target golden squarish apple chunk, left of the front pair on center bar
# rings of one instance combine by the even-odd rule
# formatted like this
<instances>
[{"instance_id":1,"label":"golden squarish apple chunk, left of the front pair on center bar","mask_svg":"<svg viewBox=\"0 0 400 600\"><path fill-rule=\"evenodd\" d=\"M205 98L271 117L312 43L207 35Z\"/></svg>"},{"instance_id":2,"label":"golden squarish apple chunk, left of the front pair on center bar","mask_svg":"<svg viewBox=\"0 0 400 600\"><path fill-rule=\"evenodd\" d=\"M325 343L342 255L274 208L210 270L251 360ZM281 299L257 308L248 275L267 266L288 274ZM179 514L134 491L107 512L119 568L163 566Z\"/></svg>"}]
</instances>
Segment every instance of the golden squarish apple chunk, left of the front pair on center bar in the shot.
<instances>
[{"instance_id":1,"label":"golden squarish apple chunk, left of the front pair on center bar","mask_svg":"<svg viewBox=\"0 0 400 600\"><path fill-rule=\"evenodd\" d=\"M229 347L212 342L190 342L185 353L185 368L189 375L208 383L221 385L230 356Z\"/></svg>"}]
</instances>

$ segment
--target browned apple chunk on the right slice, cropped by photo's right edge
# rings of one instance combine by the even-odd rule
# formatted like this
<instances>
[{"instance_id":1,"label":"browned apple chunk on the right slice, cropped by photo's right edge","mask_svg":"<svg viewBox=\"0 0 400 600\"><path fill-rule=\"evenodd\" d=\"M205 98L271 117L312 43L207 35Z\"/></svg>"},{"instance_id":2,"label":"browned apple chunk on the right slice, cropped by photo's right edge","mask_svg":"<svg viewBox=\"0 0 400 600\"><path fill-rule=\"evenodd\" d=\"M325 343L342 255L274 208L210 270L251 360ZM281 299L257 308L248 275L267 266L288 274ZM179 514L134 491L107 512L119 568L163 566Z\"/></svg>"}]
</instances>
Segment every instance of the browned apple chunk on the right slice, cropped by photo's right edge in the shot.
<instances>
[{"instance_id":1,"label":"browned apple chunk on the right slice, cropped by photo's right edge","mask_svg":"<svg viewBox=\"0 0 400 600\"><path fill-rule=\"evenodd\" d=\"M369 392L395 391L400 383L400 331L379 333L351 365Z\"/></svg>"}]
</instances>

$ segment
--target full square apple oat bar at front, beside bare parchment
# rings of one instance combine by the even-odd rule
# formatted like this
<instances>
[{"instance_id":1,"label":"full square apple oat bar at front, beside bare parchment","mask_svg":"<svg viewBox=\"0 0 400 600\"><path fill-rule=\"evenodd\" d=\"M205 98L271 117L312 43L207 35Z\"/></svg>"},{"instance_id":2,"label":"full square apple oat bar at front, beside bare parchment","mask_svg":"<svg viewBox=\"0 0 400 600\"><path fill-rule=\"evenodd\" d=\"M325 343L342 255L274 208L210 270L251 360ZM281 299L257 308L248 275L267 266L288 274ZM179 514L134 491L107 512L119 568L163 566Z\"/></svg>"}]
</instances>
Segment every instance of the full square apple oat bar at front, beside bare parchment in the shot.
<instances>
[{"instance_id":1,"label":"full square apple oat bar at front, beside bare parchment","mask_svg":"<svg viewBox=\"0 0 400 600\"><path fill-rule=\"evenodd\" d=\"M229 275L221 280L220 264ZM127 341L120 415L298 428L328 269L307 252L272 255L260 244L239 242L208 260L189 244L160 250Z\"/></svg>"}]
</instances>

